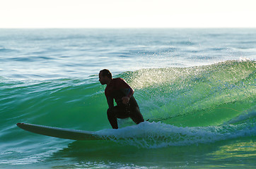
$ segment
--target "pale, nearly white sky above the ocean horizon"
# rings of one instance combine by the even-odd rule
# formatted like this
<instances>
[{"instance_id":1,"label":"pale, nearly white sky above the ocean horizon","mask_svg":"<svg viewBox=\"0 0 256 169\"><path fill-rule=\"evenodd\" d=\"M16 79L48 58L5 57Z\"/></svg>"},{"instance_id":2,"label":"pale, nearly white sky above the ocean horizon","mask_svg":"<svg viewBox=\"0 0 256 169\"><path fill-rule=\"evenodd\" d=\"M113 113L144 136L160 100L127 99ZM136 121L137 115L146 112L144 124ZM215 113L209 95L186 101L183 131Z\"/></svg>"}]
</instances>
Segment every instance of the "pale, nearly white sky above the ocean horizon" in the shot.
<instances>
[{"instance_id":1,"label":"pale, nearly white sky above the ocean horizon","mask_svg":"<svg viewBox=\"0 0 256 169\"><path fill-rule=\"evenodd\" d=\"M256 27L256 0L0 0L0 28Z\"/></svg>"}]
</instances>

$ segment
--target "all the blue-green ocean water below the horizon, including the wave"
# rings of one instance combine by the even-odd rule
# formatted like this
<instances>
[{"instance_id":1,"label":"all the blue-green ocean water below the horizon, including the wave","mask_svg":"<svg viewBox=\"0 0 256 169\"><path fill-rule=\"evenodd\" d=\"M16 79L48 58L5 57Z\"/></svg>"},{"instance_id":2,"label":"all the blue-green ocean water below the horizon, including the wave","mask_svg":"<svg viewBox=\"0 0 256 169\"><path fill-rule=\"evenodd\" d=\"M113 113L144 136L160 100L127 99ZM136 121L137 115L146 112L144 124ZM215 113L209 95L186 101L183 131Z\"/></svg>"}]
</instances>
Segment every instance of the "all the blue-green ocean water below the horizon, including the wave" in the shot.
<instances>
[{"instance_id":1,"label":"all the blue-green ocean water below the horizon, including the wave","mask_svg":"<svg viewBox=\"0 0 256 169\"><path fill-rule=\"evenodd\" d=\"M255 61L256 29L1 29L0 168L255 168ZM103 68L148 122L111 129Z\"/></svg>"}]
</instances>

